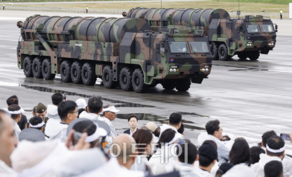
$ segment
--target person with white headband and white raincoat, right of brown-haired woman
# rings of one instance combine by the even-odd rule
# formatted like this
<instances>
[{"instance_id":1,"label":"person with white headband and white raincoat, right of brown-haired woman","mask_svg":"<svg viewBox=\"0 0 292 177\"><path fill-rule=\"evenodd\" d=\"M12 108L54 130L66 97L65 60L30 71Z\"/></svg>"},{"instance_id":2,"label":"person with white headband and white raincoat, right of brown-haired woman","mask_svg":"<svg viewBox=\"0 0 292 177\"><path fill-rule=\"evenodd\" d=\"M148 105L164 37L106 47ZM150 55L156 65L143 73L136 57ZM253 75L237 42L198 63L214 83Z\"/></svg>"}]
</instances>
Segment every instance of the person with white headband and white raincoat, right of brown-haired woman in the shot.
<instances>
[{"instance_id":1,"label":"person with white headband and white raincoat, right of brown-haired woman","mask_svg":"<svg viewBox=\"0 0 292 177\"><path fill-rule=\"evenodd\" d=\"M154 175L167 173L165 167L170 159L178 161L177 157L174 156L175 152L171 151L172 149L174 150L174 148L171 149L172 145L177 143L177 140L179 139L179 137L181 137L178 134L179 133L171 128L166 129L164 130L164 132L162 132L159 141L157 142L158 150L149 159L149 164L153 169Z\"/></svg>"}]
</instances>

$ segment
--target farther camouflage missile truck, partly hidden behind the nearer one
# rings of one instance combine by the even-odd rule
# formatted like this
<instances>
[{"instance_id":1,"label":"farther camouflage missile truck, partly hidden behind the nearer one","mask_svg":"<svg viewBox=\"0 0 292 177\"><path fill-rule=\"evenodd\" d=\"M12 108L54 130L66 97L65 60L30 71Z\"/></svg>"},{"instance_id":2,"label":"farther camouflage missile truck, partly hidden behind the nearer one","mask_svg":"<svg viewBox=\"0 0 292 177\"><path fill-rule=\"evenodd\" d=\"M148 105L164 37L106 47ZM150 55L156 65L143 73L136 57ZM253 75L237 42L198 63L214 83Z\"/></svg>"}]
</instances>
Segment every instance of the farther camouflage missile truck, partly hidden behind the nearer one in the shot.
<instances>
[{"instance_id":1,"label":"farther camouflage missile truck, partly hidden behind the nearer one","mask_svg":"<svg viewBox=\"0 0 292 177\"><path fill-rule=\"evenodd\" d=\"M162 12L162 14L161 14ZM133 8L123 13L128 18L143 18L153 30L161 26L181 25L202 28L209 43L215 44L213 59L228 60L234 55L240 59L258 59L268 54L276 43L277 25L262 16L231 19L224 9L156 9ZM161 18L162 17L162 18ZM160 24L161 22L161 24Z\"/></svg>"}]
</instances>

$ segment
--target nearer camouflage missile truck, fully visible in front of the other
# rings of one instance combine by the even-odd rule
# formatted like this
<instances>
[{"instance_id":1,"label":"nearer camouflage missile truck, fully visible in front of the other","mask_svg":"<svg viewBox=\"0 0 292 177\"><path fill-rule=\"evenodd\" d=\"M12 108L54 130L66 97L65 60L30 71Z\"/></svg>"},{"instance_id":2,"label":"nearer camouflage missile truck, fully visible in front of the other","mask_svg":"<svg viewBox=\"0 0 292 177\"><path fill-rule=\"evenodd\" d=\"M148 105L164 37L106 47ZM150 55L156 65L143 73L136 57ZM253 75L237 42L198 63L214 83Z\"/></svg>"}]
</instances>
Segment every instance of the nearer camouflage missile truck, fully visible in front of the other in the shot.
<instances>
[{"instance_id":1,"label":"nearer camouflage missile truck, fully visible in front of the other","mask_svg":"<svg viewBox=\"0 0 292 177\"><path fill-rule=\"evenodd\" d=\"M186 91L210 74L212 55L205 35L171 29L150 33L141 18L48 17L18 21L18 67L26 77L146 92L158 83ZM174 34L175 33L175 34Z\"/></svg>"}]
</instances>

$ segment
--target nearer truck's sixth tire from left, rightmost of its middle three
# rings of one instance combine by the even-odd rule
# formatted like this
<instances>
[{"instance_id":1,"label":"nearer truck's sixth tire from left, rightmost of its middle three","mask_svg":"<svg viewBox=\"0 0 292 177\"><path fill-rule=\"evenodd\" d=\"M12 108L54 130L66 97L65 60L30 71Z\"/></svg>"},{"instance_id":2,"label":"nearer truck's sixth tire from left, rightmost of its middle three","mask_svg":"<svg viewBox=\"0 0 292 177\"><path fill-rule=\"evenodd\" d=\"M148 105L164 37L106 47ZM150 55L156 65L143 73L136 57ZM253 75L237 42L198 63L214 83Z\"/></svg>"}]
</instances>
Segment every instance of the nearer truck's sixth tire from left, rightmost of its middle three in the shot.
<instances>
[{"instance_id":1,"label":"nearer truck's sixth tire from left, rightmost of its middle three","mask_svg":"<svg viewBox=\"0 0 292 177\"><path fill-rule=\"evenodd\" d=\"M86 86L93 86L96 82L95 68L90 63L85 63L82 67L82 81Z\"/></svg>"}]
</instances>

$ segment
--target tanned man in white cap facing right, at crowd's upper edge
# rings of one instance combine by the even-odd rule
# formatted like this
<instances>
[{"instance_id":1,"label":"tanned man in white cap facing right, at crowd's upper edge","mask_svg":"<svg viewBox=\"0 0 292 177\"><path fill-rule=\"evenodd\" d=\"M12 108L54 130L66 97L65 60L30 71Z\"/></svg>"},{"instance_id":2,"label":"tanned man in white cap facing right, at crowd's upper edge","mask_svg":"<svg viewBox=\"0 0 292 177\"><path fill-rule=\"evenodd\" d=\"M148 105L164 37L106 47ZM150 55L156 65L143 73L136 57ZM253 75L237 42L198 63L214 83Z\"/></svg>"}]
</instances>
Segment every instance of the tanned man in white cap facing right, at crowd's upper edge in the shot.
<instances>
[{"instance_id":1,"label":"tanned man in white cap facing right, at crowd's upper edge","mask_svg":"<svg viewBox=\"0 0 292 177\"><path fill-rule=\"evenodd\" d=\"M106 118L105 122L110 125L110 133L113 136L113 138L117 137L117 132L111 122L115 120L115 116L117 112L120 112L120 110L110 105L106 106L106 108L103 109L103 114L104 114L103 117Z\"/></svg>"}]
</instances>

